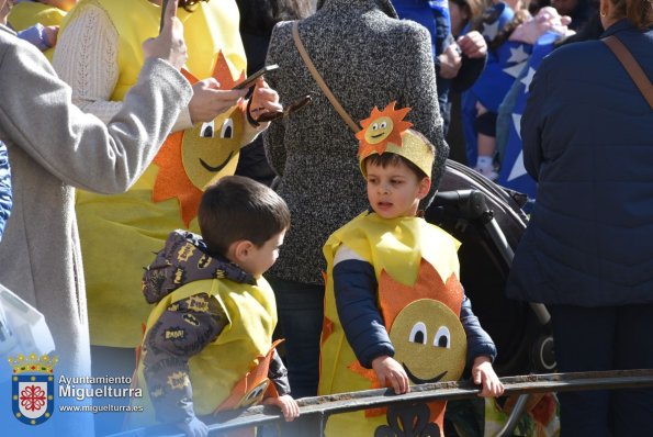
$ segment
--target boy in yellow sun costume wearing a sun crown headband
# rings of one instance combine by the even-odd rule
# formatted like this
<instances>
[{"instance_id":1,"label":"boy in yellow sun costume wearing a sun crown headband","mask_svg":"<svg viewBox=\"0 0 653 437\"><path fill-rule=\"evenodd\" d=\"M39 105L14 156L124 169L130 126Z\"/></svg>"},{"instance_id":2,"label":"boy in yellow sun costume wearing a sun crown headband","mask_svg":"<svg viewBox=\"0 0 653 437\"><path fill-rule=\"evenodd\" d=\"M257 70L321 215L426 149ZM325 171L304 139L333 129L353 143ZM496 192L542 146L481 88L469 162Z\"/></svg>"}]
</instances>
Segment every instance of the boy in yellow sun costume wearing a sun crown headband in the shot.
<instances>
[{"instance_id":1,"label":"boy in yellow sun costume wearing a sun crown headband","mask_svg":"<svg viewBox=\"0 0 653 437\"><path fill-rule=\"evenodd\" d=\"M481 395L503 385L496 348L459 282L459 243L418 216L434 147L403 119L376 108L361 122L359 160L371 210L336 231L327 260L319 394L452 381L472 365ZM443 436L444 402L331 416L328 435ZM414 429L402 429L413 426Z\"/></svg>"}]
</instances>

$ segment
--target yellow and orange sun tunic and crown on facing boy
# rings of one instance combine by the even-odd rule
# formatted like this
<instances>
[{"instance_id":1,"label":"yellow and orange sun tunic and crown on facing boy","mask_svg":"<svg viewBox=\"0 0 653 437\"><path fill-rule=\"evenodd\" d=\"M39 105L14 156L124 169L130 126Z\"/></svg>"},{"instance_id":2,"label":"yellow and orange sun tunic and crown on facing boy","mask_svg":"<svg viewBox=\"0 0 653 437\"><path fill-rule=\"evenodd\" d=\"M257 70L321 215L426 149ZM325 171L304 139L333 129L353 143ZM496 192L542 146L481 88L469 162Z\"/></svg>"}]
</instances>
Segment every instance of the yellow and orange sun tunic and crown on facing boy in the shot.
<instances>
[{"instance_id":1,"label":"yellow and orange sun tunic and crown on facing boy","mask_svg":"<svg viewBox=\"0 0 653 437\"><path fill-rule=\"evenodd\" d=\"M371 116L361 122L363 130L357 137L360 139L362 173L365 175L367 157L392 153L413 163L424 176L430 175L432 147L421 135L408 130L410 123L403 121L409 109L395 111L394 105L392 102L383 111L374 108ZM464 293L458 279L459 246L452 236L424 218L384 218L374 212L360 214L331 234L324 246L327 280L319 394L380 388L374 370L361 366L347 339L346 327L338 314L337 295L342 301L351 299L347 305L361 309L360 313L347 315L348 326L353 330L358 329L352 327L356 320L369 323L367 315L373 310L368 310L368 301L375 298L376 310L394 349L393 358L403 366L412 384L452 381L461 377L468 341L460 322ZM374 287L373 283L361 282L357 273L352 274L369 268L361 264L350 264L338 273L338 287L342 284L342 290L335 289L334 268L339 250L347 255L339 255L337 262L363 261L373 268L375 290L368 290ZM359 293L361 289L364 291ZM362 298L368 291L369 295ZM348 292L351 298L345 295ZM372 350L381 341L380 334L370 334L368 340L365 333L359 330L352 337L359 352L361 349ZM378 354L384 352L374 349L371 358ZM337 414L329 417L326 434L443 436L444 407L446 402L431 402ZM412 429L403 429L403 426Z\"/></svg>"}]
</instances>

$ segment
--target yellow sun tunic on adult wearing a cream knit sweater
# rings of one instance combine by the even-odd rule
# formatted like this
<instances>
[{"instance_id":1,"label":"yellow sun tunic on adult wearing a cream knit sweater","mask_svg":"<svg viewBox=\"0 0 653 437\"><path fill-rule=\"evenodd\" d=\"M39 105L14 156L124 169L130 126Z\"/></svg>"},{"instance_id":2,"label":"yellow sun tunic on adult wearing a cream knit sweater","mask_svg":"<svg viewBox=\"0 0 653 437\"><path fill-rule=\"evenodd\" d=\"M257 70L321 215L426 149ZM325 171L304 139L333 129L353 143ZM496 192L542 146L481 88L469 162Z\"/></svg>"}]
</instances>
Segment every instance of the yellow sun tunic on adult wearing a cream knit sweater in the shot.
<instances>
[{"instance_id":1,"label":"yellow sun tunic on adult wearing a cream knit sweater","mask_svg":"<svg viewBox=\"0 0 653 437\"><path fill-rule=\"evenodd\" d=\"M123 100L144 61L142 43L156 36L160 8L145 0L82 0L104 9L119 30L119 82L112 100ZM182 8L191 82L215 77L229 89L245 77L246 57L233 0L200 2L192 13ZM91 343L136 347L149 313L140 295L143 267L165 243L170 229L199 232L199 201L212 180L235 171L238 150L256 132L233 108L212 123L172 133L153 165L125 194L78 191L77 217L85 262Z\"/></svg>"}]
</instances>

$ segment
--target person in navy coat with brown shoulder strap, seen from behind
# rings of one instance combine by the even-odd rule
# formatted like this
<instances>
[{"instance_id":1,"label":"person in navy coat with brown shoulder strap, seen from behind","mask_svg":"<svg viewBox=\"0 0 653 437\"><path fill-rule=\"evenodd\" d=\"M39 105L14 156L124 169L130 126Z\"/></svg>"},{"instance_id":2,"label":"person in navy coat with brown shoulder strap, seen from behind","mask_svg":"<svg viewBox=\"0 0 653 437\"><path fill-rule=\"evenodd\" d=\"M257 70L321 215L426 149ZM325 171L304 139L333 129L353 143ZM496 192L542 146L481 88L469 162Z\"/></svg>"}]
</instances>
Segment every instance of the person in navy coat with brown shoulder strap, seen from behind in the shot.
<instances>
[{"instance_id":1,"label":"person in navy coat with brown shoulder strap, seen from behind","mask_svg":"<svg viewBox=\"0 0 653 437\"><path fill-rule=\"evenodd\" d=\"M619 38L649 80L651 8L600 2L603 37ZM549 306L561 371L653 368L651 126L651 107L600 41L554 51L530 85L521 135L538 201L507 292ZM562 436L653 435L652 389L560 400Z\"/></svg>"}]
</instances>

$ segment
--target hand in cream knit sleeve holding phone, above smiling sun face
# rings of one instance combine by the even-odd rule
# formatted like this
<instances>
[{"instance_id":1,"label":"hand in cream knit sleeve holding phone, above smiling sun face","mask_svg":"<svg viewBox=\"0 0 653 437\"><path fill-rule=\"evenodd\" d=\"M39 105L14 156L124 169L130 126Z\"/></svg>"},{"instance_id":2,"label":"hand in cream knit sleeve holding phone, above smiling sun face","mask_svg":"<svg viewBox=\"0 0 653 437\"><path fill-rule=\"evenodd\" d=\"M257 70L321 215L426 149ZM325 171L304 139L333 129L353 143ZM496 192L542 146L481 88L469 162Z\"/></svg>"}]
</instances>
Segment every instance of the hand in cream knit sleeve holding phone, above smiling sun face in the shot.
<instances>
[{"instance_id":1,"label":"hand in cream knit sleeve holding phone, above smiling sun face","mask_svg":"<svg viewBox=\"0 0 653 437\"><path fill-rule=\"evenodd\" d=\"M193 97L188 105L193 123L210 122L247 94L247 90L221 90L214 78L193 85Z\"/></svg>"}]
</instances>

